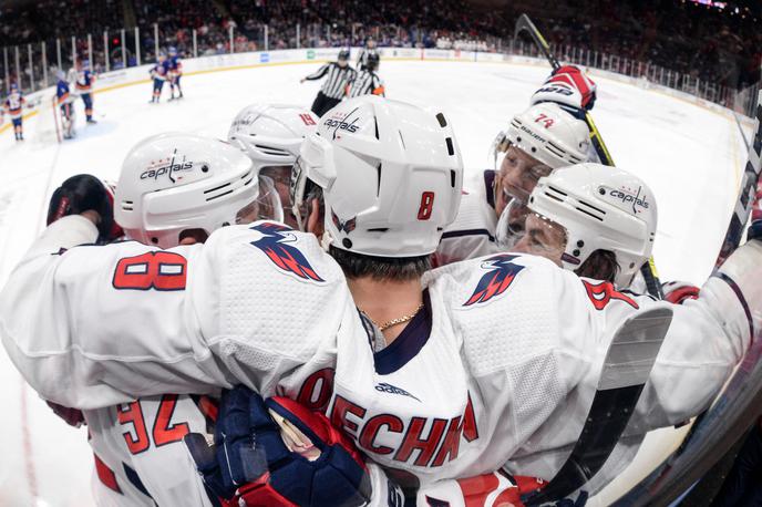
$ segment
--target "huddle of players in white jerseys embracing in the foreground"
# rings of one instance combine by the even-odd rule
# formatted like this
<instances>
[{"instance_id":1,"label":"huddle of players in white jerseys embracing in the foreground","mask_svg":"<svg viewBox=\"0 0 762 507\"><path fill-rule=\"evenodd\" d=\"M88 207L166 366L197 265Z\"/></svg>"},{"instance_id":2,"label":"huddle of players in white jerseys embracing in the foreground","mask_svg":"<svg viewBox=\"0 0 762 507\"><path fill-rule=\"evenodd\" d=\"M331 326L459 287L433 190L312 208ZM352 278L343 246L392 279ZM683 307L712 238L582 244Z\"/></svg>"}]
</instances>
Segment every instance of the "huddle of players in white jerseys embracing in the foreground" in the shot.
<instances>
[{"instance_id":1,"label":"huddle of players in white jerseys embracing in the foreground","mask_svg":"<svg viewBox=\"0 0 762 507\"><path fill-rule=\"evenodd\" d=\"M99 505L523 505L572 452L615 331L669 309L581 505L707 408L762 325L759 228L700 290L640 294L657 203L597 162L578 69L467 192L443 112L321 94L321 114L244 108L227 142L148 137L115 188L79 175L51 197L0 335L87 424Z\"/></svg>"}]
</instances>

